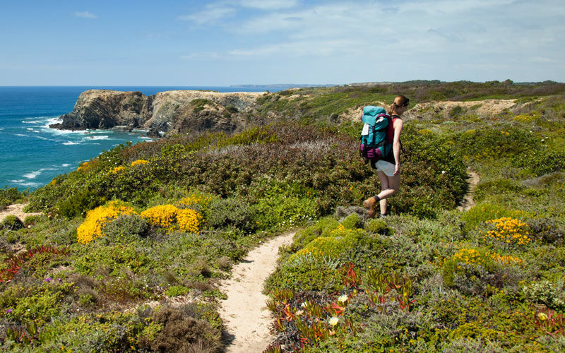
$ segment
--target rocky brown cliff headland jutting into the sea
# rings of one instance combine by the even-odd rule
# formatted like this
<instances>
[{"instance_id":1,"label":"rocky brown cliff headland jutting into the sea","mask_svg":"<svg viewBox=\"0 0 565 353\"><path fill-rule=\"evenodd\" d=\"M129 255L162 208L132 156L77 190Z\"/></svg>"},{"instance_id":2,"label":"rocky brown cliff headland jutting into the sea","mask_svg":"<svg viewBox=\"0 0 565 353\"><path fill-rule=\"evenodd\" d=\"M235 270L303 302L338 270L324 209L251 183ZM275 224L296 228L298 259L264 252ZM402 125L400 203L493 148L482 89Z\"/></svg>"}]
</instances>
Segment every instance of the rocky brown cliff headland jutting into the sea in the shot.
<instances>
[{"instance_id":1,"label":"rocky brown cliff headland jutting into the sea","mask_svg":"<svg viewBox=\"0 0 565 353\"><path fill-rule=\"evenodd\" d=\"M141 92L88 90L78 97L73 112L50 127L146 128L153 132L234 131L245 126L249 112L263 92L204 92L174 90L145 96Z\"/></svg>"}]
</instances>

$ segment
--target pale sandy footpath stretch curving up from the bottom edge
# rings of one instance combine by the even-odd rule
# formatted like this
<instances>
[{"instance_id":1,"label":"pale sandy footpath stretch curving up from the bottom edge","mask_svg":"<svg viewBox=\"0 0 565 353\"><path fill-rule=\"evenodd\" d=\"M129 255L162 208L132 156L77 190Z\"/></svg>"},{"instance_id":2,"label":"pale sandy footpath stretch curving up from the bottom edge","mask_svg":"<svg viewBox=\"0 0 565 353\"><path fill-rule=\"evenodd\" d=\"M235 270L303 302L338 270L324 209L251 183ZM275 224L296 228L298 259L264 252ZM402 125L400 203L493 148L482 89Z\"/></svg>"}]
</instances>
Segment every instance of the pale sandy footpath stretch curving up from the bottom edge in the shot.
<instances>
[{"instance_id":1,"label":"pale sandy footpath stretch curving up from the bottom edge","mask_svg":"<svg viewBox=\"0 0 565 353\"><path fill-rule=\"evenodd\" d=\"M232 278L220 285L227 294L220 316L230 336L225 352L263 352L270 343L268 297L263 295L263 282L275 270L280 246L292 243L294 233L270 239L255 249L232 269Z\"/></svg>"}]
</instances>

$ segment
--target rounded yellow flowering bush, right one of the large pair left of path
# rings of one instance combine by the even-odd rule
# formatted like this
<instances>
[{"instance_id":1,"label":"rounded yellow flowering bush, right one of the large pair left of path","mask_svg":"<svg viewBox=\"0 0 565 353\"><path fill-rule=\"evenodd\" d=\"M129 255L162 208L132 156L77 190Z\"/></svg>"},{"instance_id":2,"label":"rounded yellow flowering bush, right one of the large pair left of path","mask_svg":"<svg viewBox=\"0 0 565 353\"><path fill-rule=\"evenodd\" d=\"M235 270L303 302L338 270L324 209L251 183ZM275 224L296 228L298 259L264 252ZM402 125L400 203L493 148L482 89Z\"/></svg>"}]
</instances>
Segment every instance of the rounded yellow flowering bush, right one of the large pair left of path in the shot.
<instances>
[{"instance_id":1,"label":"rounded yellow flowering bush, right one of the large pair left of path","mask_svg":"<svg viewBox=\"0 0 565 353\"><path fill-rule=\"evenodd\" d=\"M198 233L201 215L190 208L181 209L174 205L159 205L141 213L152 225L167 229L167 232L181 230L182 232Z\"/></svg>"}]
</instances>

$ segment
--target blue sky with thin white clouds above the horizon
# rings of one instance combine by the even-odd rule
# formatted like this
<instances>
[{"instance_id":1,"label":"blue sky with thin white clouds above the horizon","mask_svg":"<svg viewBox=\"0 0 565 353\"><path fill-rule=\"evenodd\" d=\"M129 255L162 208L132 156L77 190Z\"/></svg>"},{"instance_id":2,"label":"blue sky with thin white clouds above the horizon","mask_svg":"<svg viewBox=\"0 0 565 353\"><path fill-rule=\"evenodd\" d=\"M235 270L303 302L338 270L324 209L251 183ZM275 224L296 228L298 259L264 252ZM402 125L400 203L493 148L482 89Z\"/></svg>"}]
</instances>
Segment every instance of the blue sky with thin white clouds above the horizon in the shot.
<instances>
[{"instance_id":1,"label":"blue sky with thin white clouds above the horizon","mask_svg":"<svg viewBox=\"0 0 565 353\"><path fill-rule=\"evenodd\" d=\"M0 0L0 85L565 81L565 1Z\"/></svg>"}]
</instances>

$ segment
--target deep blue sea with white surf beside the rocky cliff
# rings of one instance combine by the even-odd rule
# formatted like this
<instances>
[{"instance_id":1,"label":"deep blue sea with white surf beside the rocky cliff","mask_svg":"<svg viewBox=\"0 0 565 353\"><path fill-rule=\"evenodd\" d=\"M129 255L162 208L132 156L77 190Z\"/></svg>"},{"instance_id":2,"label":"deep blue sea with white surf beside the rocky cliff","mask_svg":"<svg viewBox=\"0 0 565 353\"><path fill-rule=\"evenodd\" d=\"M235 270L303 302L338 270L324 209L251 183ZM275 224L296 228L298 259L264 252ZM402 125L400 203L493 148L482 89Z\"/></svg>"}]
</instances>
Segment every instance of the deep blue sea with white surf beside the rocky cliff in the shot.
<instances>
[{"instance_id":1,"label":"deep blue sea with white surf beside the rocky cliff","mask_svg":"<svg viewBox=\"0 0 565 353\"><path fill-rule=\"evenodd\" d=\"M154 95L166 90L215 90L260 92L266 88L237 87L8 87L0 86L0 188L30 191L49 183L58 174L131 141L150 141L145 131L61 131L49 128L58 117L73 110L78 95L90 89L140 91ZM269 88L271 92L284 88Z\"/></svg>"}]
</instances>

